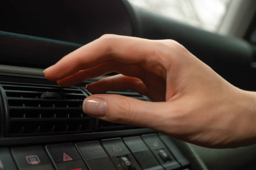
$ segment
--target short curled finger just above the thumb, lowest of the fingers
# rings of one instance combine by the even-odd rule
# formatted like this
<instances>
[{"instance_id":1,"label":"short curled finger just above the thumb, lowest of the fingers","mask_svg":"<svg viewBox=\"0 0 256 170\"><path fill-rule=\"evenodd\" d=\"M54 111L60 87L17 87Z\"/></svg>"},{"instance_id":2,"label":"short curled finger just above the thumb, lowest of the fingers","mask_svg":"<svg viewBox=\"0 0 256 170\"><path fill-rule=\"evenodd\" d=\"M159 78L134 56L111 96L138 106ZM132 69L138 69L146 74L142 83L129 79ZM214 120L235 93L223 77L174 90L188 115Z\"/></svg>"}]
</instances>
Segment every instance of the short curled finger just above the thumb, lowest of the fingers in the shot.
<instances>
[{"instance_id":1,"label":"short curled finger just above the thumb, lowest of the fingers","mask_svg":"<svg viewBox=\"0 0 256 170\"><path fill-rule=\"evenodd\" d=\"M146 85L140 79L121 74L102 78L97 82L88 84L86 87L92 94L105 93L108 91L133 90L141 95L147 95Z\"/></svg>"}]
</instances>

